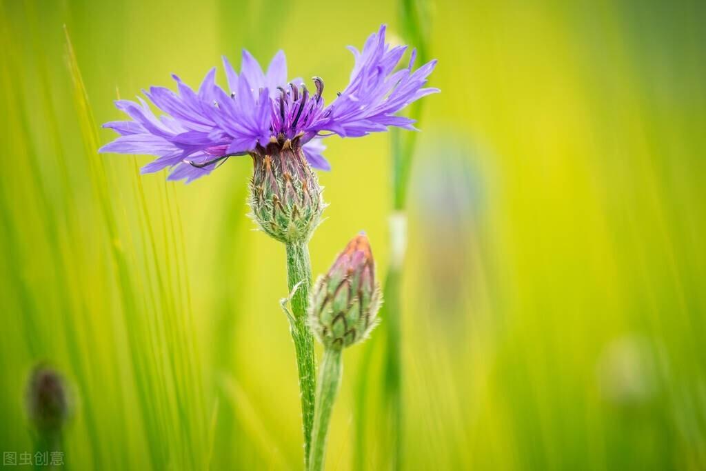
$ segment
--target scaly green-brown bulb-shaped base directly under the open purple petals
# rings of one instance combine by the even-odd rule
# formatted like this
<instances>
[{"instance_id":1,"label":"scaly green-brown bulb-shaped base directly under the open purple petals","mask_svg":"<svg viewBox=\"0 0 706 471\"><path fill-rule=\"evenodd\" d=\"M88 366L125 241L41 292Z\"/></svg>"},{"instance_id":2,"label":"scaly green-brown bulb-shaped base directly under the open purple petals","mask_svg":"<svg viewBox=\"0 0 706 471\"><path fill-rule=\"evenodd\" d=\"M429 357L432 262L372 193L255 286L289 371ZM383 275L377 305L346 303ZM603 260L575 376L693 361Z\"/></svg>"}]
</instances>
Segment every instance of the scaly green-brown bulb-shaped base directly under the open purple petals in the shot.
<instances>
[{"instance_id":1,"label":"scaly green-brown bulb-shaped base directly under the open purple petals","mask_svg":"<svg viewBox=\"0 0 706 471\"><path fill-rule=\"evenodd\" d=\"M251 216L280 242L306 242L325 204L316 174L298 143L271 143L253 156Z\"/></svg>"}]
</instances>

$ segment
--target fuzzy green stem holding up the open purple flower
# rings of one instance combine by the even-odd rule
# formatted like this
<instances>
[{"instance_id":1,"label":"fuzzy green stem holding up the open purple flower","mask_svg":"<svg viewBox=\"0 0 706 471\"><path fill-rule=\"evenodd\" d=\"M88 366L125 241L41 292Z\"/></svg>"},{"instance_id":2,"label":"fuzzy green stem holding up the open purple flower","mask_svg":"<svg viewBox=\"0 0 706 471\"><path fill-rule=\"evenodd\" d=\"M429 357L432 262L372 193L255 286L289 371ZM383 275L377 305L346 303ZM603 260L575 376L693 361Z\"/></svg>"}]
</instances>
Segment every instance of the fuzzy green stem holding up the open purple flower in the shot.
<instances>
[{"instance_id":1,"label":"fuzzy green stem holding up the open purple flower","mask_svg":"<svg viewBox=\"0 0 706 471\"><path fill-rule=\"evenodd\" d=\"M301 418L304 422L304 464L308 465L316 394L316 360L313 354L313 338L306 323L311 288L311 262L306 242L287 244L287 284L290 292L297 287L289 302L292 305L291 332L297 353Z\"/></svg>"}]
</instances>

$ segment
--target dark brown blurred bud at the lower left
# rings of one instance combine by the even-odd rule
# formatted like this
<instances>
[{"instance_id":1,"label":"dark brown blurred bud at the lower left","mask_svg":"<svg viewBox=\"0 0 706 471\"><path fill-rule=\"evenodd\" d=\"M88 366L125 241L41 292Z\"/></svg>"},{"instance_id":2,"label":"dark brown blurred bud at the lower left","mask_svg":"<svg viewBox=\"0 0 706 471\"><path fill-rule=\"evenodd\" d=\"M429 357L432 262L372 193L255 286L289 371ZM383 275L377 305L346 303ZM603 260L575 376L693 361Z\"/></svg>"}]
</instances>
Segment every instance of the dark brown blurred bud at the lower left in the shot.
<instances>
[{"instance_id":1,"label":"dark brown blurred bud at the lower left","mask_svg":"<svg viewBox=\"0 0 706 471\"><path fill-rule=\"evenodd\" d=\"M47 366L37 366L27 387L30 421L40 433L56 433L68 417L68 398L64 378Z\"/></svg>"}]
</instances>

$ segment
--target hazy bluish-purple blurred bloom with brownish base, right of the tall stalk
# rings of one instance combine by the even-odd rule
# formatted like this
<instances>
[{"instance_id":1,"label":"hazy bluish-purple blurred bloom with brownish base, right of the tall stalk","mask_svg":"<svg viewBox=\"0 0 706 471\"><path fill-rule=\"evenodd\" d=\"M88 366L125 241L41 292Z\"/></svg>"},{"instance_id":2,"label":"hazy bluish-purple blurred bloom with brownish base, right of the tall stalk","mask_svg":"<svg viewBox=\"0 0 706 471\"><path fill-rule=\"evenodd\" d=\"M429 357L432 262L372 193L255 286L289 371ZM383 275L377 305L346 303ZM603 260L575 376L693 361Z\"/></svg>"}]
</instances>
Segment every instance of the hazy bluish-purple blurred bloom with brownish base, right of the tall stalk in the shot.
<instances>
[{"instance_id":1,"label":"hazy bluish-purple blurred bloom with brownish base, right of the tall stalk","mask_svg":"<svg viewBox=\"0 0 706 471\"><path fill-rule=\"evenodd\" d=\"M435 318L462 315L479 290L484 186L474 168L475 151L450 139L431 143L433 155L417 160L413 189L419 218L423 280ZM421 152L427 155L426 152Z\"/></svg>"}]
</instances>

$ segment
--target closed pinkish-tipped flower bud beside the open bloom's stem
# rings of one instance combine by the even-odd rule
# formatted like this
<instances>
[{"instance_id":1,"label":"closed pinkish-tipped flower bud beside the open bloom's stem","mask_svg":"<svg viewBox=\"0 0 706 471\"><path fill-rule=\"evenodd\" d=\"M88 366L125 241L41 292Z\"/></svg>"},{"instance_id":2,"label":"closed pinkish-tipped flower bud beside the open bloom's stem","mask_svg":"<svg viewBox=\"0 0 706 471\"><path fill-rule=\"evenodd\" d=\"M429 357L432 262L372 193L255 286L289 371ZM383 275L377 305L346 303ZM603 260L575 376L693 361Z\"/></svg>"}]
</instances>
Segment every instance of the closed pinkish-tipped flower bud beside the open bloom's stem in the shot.
<instances>
[{"instance_id":1,"label":"closed pinkish-tipped flower bud beside the open bloom's stem","mask_svg":"<svg viewBox=\"0 0 706 471\"><path fill-rule=\"evenodd\" d=\"M314 335L327 348L364 340L378 323L381 297L368 237L361 233L316 280L309 304Z\"/></svg>"}]
</instances>

